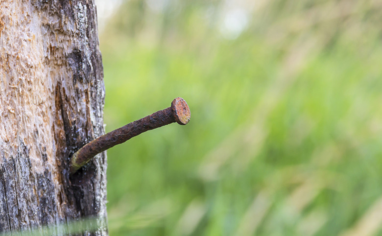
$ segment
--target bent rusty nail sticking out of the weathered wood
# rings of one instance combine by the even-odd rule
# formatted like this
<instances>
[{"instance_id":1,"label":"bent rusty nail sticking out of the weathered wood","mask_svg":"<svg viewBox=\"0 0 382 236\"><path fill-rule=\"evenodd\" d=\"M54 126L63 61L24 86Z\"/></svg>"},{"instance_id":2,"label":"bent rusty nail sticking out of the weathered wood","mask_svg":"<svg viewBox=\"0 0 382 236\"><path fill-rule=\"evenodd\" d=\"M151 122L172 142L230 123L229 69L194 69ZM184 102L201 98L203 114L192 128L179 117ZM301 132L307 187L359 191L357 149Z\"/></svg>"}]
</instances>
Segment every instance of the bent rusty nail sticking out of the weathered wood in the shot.
<instances>
[{"instance_id":1,"label":"bent rusty nail sticking out of the weathered wood","mask_svg":"<svg viewBox=\"0 0 382 236\"><path fill-rule=\"evenodd\" d=\"M170 107L126 124L85 144L73 154L70 172L74 174L98 153L119 143L126 142L143 132L174 122L185 125L190 121L190 118L191 112L187 102L183 98L177 97L171 102Z\"/></svg>"}]
</instances>

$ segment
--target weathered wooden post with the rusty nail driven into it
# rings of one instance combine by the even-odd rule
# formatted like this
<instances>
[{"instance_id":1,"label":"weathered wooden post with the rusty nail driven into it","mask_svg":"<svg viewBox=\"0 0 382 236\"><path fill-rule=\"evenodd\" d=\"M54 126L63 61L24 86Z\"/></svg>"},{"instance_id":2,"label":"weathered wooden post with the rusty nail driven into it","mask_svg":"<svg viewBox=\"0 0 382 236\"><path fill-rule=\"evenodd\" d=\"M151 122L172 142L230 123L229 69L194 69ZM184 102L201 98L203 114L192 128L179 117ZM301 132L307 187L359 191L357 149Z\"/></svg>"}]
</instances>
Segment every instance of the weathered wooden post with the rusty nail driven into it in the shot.
<instances>
[{"instance_id":1,"label":"weathered wooden post with the rusty nail driven into it","mask_svg":"<svg viewBox=\"0 0 382 236\"><path fill-rule=\"evenodd\" d=\"M0 232L105 219L106 154L69 176L104 132L94 1L0 0L0 80Z\"/></svg>"}]
</instances>

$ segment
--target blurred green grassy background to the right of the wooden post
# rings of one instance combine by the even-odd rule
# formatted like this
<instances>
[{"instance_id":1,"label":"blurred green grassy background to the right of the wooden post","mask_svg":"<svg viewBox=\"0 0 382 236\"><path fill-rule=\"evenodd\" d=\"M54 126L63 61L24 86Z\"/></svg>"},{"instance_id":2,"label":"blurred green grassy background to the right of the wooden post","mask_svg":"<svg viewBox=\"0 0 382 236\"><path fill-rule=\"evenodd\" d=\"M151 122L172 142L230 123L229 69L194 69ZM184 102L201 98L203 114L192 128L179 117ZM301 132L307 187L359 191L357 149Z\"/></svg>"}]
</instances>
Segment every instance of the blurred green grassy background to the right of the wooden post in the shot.
<instances>
[{"instance_id":1,"label":"blurred green grassy background to the right of the wooden post","mask_svg":"<svg viewBox=\"0 0 382 236\"><path fill-rule=\"evenodd\" d=\"M106 131L191 121L108 150L111 236L382 235L381 1L113 4Z\"/></svg>"}]
</instances>

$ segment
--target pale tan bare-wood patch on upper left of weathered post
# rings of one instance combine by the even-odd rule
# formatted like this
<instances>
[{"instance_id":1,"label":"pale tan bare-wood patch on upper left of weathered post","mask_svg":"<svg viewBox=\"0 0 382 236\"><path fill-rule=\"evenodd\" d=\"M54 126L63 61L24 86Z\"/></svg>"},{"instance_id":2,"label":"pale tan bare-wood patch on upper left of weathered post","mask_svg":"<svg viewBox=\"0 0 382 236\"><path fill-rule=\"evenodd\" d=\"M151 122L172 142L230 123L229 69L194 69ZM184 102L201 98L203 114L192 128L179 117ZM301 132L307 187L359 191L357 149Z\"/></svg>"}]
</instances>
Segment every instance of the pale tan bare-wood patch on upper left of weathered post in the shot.
<instances>
[{"instance_id":1,"label":"pale tan bare-wood patch on upper left of weathered post","mask_svg":"<svg viewBox=\"0 0 382 236\"><path fill-rule=\"evenodd\" d=\"M49 38L42 35L41 22L30 4L14 1L1 4L0 145L5 158L9 158L17 156L23 142L32 167L42 173L46 167L43 154L50 165L55 163L51 143L54 78L49 76L49 65L44 63L43 48L43 42Z\"/></svg>"}]
</instances>

